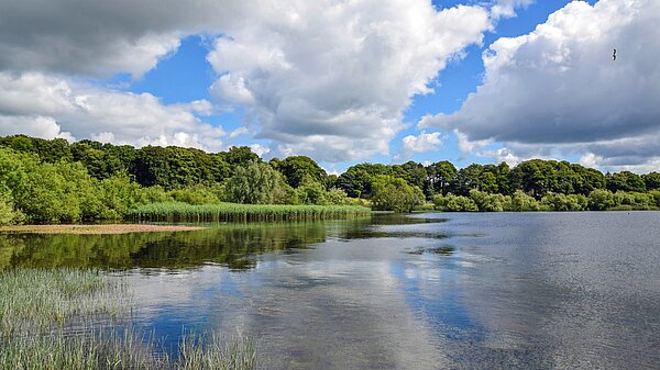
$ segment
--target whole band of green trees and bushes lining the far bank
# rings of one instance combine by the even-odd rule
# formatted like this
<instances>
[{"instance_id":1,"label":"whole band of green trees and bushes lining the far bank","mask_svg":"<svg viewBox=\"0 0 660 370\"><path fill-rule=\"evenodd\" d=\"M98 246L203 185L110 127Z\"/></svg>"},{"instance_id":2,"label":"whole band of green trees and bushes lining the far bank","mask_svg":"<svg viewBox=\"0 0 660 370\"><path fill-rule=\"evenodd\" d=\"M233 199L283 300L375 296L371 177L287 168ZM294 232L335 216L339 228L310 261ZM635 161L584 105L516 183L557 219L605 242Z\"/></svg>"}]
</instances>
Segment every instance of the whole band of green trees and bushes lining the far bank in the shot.
<instances>
[{"instance_id":1,"label":"whole band of green trees and bushes lining the far bank","mask_svg":"<svg viewBox=\"0 0 660 370\"><path fill-rule=\"evenodd\" d=\"M249 147L207 153L176 146L0 137L0 223L121 218L138 204L370 204L408 212L656 209L660 173L602 173L531 159L509 167L447 160L359 164L328 175L305 156L263 161ZM425 205L426 204L426 205Z\"/></svg>"}]
</instances>

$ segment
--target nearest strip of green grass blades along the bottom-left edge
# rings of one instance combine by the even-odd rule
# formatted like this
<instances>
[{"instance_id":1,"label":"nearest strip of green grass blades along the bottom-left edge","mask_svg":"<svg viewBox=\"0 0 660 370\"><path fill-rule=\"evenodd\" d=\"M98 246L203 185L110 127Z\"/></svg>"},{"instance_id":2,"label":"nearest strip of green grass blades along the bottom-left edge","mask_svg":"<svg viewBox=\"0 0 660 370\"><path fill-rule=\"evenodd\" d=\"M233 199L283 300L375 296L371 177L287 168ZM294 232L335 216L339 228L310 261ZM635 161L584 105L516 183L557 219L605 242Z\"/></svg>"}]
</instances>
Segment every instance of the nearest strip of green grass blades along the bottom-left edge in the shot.
<instances>
[{"instance_id":1,"label":"nearest strip of green grass blades along the bottom-left edge","mask_svg":"<svg viewBox=\"0 0 660 370\"><path fill-rule=\"evenodd\" d=\"M250 370L256 351L245 338L222 340L217 334L189 334L179 339L177 358L155 351L153 338L133 329L91 330L70 335L64 330L0 339L0 370L44 369L172 369Z\"/></svg>"}]
</instances>

